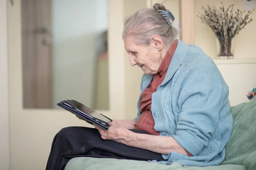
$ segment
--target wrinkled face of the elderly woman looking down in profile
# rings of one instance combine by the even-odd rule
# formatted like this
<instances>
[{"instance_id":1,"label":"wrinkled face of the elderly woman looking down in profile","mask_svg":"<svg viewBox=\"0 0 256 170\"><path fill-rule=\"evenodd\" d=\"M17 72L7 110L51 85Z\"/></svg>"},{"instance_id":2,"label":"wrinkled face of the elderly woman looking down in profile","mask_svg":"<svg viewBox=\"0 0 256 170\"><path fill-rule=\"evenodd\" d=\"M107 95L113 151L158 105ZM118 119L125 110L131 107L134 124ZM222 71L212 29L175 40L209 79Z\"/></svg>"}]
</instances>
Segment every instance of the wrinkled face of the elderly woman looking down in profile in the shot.
<instances>
[{"instance_id":1,"label":"wrinkled face of the elderly woman looking down in profile","mask_svg":"<svg viewBox=\"0 0 256 170\"><path fill-rule=\"evenodd\" d=\"M131 66L139 66L145 74L157 73L162 59L161 53L154 42L150 42L149 45L138 45L132 35L125 37L124 42Z\"/></svg>"}]
</instances>

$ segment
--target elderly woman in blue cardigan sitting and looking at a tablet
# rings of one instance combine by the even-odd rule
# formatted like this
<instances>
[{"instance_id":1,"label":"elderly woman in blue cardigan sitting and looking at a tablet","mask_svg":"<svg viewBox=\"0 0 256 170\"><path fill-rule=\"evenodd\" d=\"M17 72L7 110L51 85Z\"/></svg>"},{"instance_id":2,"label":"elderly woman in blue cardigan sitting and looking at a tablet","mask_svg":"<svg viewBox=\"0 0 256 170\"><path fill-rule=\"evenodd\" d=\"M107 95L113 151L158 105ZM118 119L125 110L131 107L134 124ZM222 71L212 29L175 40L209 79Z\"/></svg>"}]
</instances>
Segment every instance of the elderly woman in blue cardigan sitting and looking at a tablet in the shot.
<instances>
[{"instance_id":1,"label":"elderly woman in blue cardigan sitting and looking at a tablet","mask_svg":"<svg viewBox=\"0 0 256 170\"><path fill-rule=\"evenodd\" d=\"M174 17L161 4L125 21L123 39L132 66L144 75L134 120L108 130L67 127L52 143L48 170L79 156L159 161L184 166L221 164L233 126L228 86L196 45L176 40Z\"/></svg>"}]
</instances>

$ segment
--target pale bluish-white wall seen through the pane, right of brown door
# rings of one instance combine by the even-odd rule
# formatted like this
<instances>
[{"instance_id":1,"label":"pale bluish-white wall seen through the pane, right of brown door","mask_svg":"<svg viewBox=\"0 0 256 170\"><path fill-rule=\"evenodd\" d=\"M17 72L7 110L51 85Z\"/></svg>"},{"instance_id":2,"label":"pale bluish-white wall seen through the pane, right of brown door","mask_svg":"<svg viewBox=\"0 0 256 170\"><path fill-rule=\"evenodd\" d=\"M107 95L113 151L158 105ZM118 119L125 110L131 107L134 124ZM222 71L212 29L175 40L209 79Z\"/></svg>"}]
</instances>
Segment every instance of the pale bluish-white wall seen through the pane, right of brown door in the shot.
<instances>
[{"instance_id":1,"label":"pale bluish-white wall seen through the pane, right of brown door","mask_svg":"<svg viewBox=\"0 0 256 170\"><path fill-rule=\"evenodd\" d=\"M98 37L107 28L107 0L52 0L54 108L64 99L93 107Z\"/></svg>"}]
</instances>

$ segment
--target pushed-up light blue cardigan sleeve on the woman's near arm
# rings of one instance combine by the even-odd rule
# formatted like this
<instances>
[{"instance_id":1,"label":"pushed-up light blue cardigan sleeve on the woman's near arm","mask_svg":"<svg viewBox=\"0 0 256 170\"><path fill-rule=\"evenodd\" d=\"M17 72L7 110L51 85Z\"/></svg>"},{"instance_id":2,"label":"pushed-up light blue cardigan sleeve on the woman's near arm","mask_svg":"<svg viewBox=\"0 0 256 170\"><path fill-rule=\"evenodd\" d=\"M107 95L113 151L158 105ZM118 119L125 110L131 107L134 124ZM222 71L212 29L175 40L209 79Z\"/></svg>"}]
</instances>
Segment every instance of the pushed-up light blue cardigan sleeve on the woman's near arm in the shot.
<instances>
[{"instance_id":1,"label":"pushed-up light blue cardigan sleeve on the woman's near arm","mask_svg":"<svg viewBox=\"0 0 256 170\"><path fill-rule=\"evenodd\" d=\"M177 101L180 113L173 137L197 156L208 145L217 127L224 100L223 87L214 70L206 67L188 70L183 75Z\"/></svg>"}]
</instances>

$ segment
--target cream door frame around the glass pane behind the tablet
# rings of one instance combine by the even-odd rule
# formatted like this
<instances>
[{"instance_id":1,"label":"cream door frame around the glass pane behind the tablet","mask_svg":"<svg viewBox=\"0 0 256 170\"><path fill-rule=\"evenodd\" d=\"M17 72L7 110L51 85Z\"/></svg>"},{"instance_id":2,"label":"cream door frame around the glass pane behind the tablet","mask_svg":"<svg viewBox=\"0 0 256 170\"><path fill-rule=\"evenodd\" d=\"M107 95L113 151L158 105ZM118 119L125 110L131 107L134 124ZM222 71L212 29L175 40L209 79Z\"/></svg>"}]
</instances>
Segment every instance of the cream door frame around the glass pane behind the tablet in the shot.
<instances>
[{"instance_id":1,"label":"cream door frame around the glass pane behind the tablet","mask_svg":"<svg viewBox=\"0 0 256 170\"><path fill-rule=\"evenodd\" d=\"M11 169L44 169L52 139L63 127L90 126L64 110L23 109L20 0L8 2L9 113ZM122 29L123 0L108 0L109 103L102 111L112 119L125 118L125 69Z\"/></svg>"}]
</instances>

